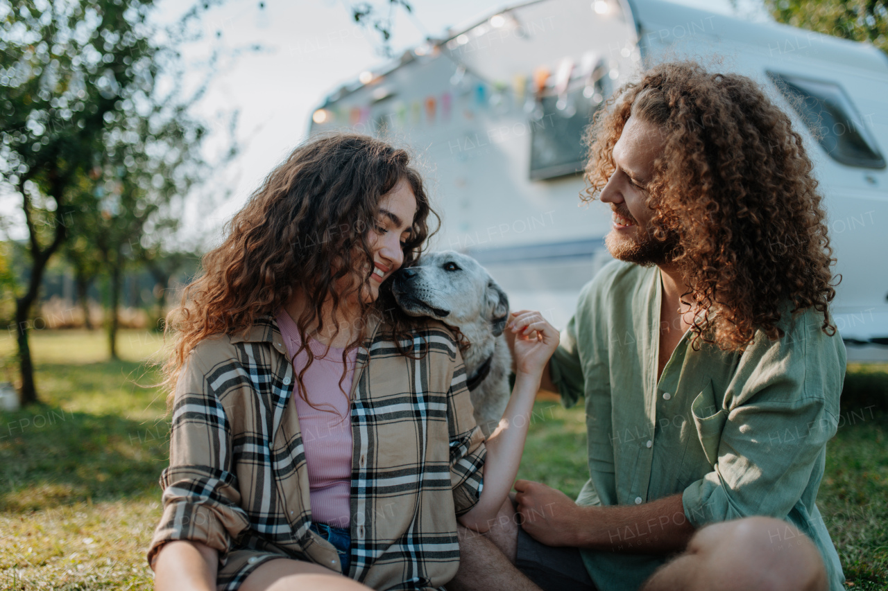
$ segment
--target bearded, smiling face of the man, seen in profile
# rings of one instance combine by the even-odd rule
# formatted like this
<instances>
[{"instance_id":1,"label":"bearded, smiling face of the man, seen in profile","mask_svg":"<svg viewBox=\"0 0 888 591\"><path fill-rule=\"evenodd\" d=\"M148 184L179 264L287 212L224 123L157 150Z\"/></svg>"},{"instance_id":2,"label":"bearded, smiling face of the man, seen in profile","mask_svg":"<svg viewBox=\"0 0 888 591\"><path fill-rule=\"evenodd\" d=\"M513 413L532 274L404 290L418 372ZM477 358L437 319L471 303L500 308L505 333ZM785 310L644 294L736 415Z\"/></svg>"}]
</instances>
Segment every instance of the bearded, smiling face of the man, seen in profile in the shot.
<instances>
[{"instance_id":1,"label":"bearded, smiling face of the man, seen in profile","mask_svg":"<svg viewBox=\"0 0 888 591\"><path fill-rule=\"evenodd\" d=\"M611 204L611 231L605 243L614 258L630 263L661 264L668 261L675 240L661 242L651 235L654 210L646 186L654 178L654 161L665 140L659 127L631 116L614 144L614 174L601 190L600 199Z\"/></svg>"}]
</instances>

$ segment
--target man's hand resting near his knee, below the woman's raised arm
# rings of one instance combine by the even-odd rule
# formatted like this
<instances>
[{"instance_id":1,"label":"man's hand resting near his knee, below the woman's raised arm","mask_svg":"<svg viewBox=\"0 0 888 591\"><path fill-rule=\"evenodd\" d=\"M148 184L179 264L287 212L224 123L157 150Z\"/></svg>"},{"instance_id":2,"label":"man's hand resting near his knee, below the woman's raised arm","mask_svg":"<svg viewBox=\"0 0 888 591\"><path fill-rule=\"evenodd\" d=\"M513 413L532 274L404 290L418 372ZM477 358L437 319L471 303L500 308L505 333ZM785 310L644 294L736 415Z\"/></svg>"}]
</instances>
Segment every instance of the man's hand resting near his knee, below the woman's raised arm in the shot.
<instances>
[{"instance_id":1,"label":"man's hand resting near his knee, below the woman's raised arm","mask_svg":"<svg viewBox=\"0 0 888 591\"><path fill-rule=\"evenodd\" d=\"M567 494L530 480L515 481L515 501L521 527L547 546L578 546L577 530L583 527L583 507Z\"/></svg>"}]
</instances>

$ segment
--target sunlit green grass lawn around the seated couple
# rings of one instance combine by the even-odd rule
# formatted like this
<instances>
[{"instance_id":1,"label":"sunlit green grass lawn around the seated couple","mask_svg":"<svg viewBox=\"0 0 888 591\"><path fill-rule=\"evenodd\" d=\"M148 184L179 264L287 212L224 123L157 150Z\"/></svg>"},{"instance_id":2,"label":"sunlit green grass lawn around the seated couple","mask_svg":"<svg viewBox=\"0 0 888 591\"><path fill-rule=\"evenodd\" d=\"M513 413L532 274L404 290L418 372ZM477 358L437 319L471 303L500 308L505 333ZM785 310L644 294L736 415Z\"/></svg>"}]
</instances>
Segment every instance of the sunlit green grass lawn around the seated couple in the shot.
<instances>
[{"instance_id":1,"label":"sunlit green grass lawn around the seated couple","mask_svg":"<svg viewBox=\"0 0 888 591\"><path fill-rule=\"evenodd\" d=\"M99 332L36 331L32 343L45 404L0 412L0 589L151 589L144 551L160 516L169 424L145 360L162 342L123 331L119 361L104 360ZM12 350L0 338L0 359ZM884 394L885 369L850 368L856 390L818 499L852 589L888 586L888 415L867 398ZM537 402L519 477L575 495L584 433L581 408Z\"/></svg>"}]
</instances>

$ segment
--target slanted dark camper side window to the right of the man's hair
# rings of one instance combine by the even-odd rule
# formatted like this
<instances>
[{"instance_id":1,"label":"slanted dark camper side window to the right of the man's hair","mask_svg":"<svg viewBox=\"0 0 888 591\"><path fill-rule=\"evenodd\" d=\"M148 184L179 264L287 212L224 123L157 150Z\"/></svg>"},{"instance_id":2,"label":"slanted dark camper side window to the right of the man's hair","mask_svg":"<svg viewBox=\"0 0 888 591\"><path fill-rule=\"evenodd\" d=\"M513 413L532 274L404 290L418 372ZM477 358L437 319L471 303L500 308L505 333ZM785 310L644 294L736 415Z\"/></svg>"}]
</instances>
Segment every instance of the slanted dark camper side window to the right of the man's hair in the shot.
<instances>
[{"instance_id":1,"label":"slanted dark camper side window to the right of the man's hair","mask_svg":"<svg viewBox=\"0 0 888 591\"><path fill-rule=\"evenodd\" d=\"M838 84L767 74L833 160L863 169L885 168L866 122Z\"/></svg>"}]
</instances>

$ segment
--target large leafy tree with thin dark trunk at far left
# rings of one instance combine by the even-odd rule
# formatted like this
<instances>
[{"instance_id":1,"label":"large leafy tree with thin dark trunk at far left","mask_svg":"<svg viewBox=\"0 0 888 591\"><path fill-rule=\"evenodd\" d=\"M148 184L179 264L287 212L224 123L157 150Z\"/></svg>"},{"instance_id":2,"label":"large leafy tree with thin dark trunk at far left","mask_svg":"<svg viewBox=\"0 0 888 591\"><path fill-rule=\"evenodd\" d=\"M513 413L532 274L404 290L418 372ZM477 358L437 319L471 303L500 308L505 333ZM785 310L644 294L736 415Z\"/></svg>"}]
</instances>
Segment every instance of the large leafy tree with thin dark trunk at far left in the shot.
<instances>
[{"instance_id":1,"label":"large leafy tree with thin dark trunk at far left","mask_svg":"<svg viewBox=\"0 0 888 591\"><path fill-rule=\"evenodd\" d=\"M188 21L209 7L195 4L175 27L160 30L148 20L150 0L0 5L0 182L20 195L30 259L27 286L15 298L23 405L37 401L28 320L46 264L75 227L113 203L99 189L119 181L128 191L168 195L194 178L171 167L200 168L204 130L178 87L170 93L157 81L179 59L175 43L194 37ZM164 153L170 145L178 152ZM131 181L120 173L139 162L163 162L159 174L170 177L157 181L147 166Z\"/></svg>"}]
</instances>

